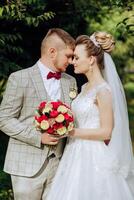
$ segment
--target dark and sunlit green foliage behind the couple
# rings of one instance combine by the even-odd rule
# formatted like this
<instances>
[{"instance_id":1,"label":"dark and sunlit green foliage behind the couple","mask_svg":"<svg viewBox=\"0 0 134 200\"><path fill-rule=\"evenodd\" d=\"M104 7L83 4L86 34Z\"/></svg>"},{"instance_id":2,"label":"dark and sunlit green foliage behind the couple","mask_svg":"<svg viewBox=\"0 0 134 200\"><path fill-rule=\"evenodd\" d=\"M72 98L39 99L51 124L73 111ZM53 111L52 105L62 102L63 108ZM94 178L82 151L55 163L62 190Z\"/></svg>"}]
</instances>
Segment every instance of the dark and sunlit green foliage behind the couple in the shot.
<instances>
[{"instance_id":1,"label":"dark and sunlit green foliage behind the couple","mask_svg":"<svg viewBox=\"0 0 134 200\"><path fill-rule=\"evenodd\" d=\"M116 39L113 58L123 82L134 141L134 2L130 0L0 0L0 101L10 73L33 65L49 28L74 38L107 31ZM73 73L78 87L86 81ZM3 169L8 137L0 134L0 199L13 199L10 177Z\"/></svg>"}]
</instances>

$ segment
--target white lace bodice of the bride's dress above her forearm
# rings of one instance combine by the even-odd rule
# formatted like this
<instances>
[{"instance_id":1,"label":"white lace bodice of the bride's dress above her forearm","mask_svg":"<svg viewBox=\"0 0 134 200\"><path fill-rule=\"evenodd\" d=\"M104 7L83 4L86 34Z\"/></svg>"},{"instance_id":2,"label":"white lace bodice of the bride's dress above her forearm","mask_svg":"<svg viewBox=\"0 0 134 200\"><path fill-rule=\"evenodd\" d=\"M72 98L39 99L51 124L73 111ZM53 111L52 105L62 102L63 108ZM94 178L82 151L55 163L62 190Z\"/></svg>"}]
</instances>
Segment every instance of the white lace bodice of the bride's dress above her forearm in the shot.
<instances>
[{"instance_id":1,"label":"white lace bodice of the bride's dress above her forearm","mask_svg":"<svg viewBox=\"0 0 134 200\"><path fill-rule=\"evenodd\" d=\"M81 93L72 103L76 126L79 128L97 128L100 126L97 93L100 90L110 91L110 87L106 82L103 82L90 90L86 88L86 84L84 84Z\"/></svg>"}]
</instances>

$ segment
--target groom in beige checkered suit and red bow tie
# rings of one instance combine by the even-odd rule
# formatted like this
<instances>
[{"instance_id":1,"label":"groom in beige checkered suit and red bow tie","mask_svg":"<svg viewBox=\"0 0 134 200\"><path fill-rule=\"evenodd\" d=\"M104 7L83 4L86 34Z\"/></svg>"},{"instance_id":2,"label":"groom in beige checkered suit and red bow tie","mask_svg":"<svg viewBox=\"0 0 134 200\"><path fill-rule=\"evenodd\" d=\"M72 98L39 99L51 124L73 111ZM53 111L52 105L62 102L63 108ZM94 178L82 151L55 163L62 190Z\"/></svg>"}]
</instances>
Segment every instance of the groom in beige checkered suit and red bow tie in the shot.
<instances>
[{"instance_id":1,"label":"groom in beige checkered suit and red bow tie","mask_svg":"<svg viewBox=\"0 0 134 200\"><path fill-rule=\"evenodd\" d=\"M8 79L0 129L10 136L4 171L11 174L16 200L46 199L65 141L37 131L34 112L41 101L60 99L70 105L69 90L76 82L64 72L72 62L73 50L74 39L67 32L50 29L37 63Z\"/></svg>"}]
</instances>

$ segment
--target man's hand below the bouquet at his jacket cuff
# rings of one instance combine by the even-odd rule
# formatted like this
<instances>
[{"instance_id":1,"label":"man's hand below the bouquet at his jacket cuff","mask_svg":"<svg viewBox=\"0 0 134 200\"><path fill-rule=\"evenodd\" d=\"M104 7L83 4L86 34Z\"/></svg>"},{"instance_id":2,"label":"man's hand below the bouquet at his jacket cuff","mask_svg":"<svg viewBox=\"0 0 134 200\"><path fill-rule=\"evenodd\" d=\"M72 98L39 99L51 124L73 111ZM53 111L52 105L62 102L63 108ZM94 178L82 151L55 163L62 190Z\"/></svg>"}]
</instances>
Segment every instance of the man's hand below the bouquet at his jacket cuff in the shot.
<instances>
[{"instance_id":1,"label":"man's hand below the bouquet at his jacket cuff","mask_svg":"<svg viewBox=\"0 0 134 200\"><path fill-rule=\"evenodd\" d=\"M58 144L59 139L48 134L48 133L43 133L41 135L41 143L42 144L49 144L49 145L56 145Z\"/></svg>"}]
</instances>

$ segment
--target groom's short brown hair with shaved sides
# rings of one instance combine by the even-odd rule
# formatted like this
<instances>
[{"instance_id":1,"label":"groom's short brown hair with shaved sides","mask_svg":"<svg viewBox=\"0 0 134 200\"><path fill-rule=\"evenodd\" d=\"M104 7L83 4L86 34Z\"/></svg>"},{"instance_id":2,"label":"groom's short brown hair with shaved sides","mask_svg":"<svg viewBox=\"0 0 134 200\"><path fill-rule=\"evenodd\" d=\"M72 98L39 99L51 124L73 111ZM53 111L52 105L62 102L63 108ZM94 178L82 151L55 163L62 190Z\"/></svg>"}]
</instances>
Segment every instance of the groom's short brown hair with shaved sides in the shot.
<instances>
[{"instance_id":1,"label":"groom's short brown hair with shaved sides","mask_svg":"<svg viewBox=\"0 0 134 200\"><path fill-rule=\"evenodd\" d=\"M75 48L74 38L68 32L64 31L63 29L52 28L52 29L49 29L49 31L47 32L45 38L43 39L43 41L41 43L41 51L45 48L47 39L50 38L50 36L54 36L54 35L58 36L59 39L61 39L66 46L68 46L74 50L74 48Z\"/></svg>"}]
</instances>

